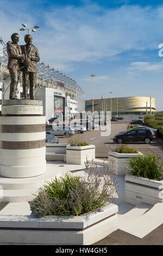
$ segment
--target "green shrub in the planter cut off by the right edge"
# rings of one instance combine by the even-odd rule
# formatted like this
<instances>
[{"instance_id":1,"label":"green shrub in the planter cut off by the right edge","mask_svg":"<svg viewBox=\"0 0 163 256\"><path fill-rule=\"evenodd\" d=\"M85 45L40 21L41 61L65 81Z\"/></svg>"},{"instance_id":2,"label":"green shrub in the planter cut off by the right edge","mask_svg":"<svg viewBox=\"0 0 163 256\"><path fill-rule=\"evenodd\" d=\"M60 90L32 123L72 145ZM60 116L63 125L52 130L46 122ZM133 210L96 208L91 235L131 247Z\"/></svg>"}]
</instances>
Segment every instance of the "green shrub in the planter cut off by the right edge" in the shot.
<instances>
[{"instance_id":1,"label":"green shrub in the planter cut off by the right edge","mask_svg":"<svg viewBox=\"0 0 163 256\"><path fill-rule=\"evenodd\" d=\"M162 180L163 169L159 156L149 153L128 160L129 174L152 180Z\"/></svg>"}]
</instances>

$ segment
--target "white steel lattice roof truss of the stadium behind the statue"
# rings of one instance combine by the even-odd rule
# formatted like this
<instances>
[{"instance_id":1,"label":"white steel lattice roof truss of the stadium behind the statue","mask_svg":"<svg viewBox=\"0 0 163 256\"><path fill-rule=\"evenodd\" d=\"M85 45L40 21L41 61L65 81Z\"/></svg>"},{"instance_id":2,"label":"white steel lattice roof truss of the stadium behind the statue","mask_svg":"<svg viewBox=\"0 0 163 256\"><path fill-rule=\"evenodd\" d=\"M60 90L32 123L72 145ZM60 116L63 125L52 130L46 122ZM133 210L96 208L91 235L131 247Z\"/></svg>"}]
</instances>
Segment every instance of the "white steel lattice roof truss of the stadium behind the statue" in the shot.
<instances>
[{"instance_id":1,"label":"white steel lattice roof truss of the stadium behind the statue","mask_svg":"<svg viewBox=\"0 0 163 256\"><path fill-rule=\"evenodd\" d=\"M0 82L9 76L7 69L8 54L7 45L0 39ZM84 95L84 90L80 88L75 80L60 73L58 70L46 66L43 62L37 63L37 81L36 90L40 87L57 88L64 90L65 93L76 97L77 95Z\"/></svg>"}]
</instances>

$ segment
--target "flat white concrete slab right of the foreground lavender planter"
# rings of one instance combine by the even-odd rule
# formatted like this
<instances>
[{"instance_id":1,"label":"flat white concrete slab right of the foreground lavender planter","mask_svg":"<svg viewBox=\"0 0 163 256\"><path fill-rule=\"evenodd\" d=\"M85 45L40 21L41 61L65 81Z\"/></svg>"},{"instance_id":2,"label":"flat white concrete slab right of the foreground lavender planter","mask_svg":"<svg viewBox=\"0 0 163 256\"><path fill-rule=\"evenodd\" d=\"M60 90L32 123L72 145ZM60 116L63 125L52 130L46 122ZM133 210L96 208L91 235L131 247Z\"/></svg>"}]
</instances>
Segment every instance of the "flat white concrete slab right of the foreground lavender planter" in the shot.
<instances>
[{"instance_id":1,"label":"flat white concrete slab right of the foreground lavender planter","mask_svg":"<svg viewBox=\"0 0 163 256\"><path fill-rule=\"evenodd\" d=\"M131 211L133 210L134 209ZM163 223L163 204L157 203L154 206L151 205L151 209L148 208L148 205L146 207L146 204L144 204L142 208L137 207L134 217L131 217L131 212L128 212L127 215L128 221L121 219L122 223L119 229L131 235L143 238Z\"/></svg>"}]
</instances>

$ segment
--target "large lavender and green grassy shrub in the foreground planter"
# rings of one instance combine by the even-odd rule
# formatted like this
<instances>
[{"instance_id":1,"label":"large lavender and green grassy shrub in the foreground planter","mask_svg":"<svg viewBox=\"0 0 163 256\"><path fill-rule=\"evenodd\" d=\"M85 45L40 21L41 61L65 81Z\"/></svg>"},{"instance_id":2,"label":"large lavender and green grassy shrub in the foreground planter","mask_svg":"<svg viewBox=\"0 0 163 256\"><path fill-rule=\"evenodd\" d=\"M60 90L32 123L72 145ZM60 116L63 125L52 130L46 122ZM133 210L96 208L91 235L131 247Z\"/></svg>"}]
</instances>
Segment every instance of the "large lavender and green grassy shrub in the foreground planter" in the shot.
<instances>
[{"instance_id":1,"label":"large lavender and green grassy shrub in the foreground planter","mask_svg":"<svg viewBox=\"0 0 163 256\"><path fill-rule=\"evenodd\" d=\"M88 175L83 178L66 174L55 178L40 188L30 209L37 217L47 215L78 216L90 211L100 211L111 202L116 193L115 175L101 175L97 166L86 161Z\"/></svg>"}]
</instances>

